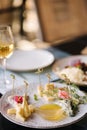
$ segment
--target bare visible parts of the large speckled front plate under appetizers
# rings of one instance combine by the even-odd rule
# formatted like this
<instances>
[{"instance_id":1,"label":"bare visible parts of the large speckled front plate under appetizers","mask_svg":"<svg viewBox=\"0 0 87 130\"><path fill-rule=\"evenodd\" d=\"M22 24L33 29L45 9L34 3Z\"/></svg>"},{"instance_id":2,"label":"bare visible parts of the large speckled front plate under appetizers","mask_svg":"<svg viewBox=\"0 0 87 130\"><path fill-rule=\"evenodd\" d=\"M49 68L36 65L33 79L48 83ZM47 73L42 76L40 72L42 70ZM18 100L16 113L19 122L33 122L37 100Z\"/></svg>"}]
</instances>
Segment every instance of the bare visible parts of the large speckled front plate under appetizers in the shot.
<instances>
[{"instance_id":1,"label":"bare visible parts of the large speckled front plate under appetizers","mask_svg":"<svg viewBox=\"0 0 87 130\"><path fill-rule=\"evenodd\" d=\"M57 84L57 85L60 86L60 84ZM39 98L38 101L34 100L34 94L36 94L36 92L37 92L37 84L36 83L31 83L27 90L28 90L27 92L30 96L29 103L34 104L36 106L39 106L39 105L46 103L46 101L43 98ZM15 89L14 94L15 95L23 95L24 92L25 92L25 88L24 88L24 86L22 86L21 88ZM16 123L16 124L21 125L21 126L25 126L25 127L43 128L43 129L64 127L64 126L67 126L67 125L70 125L70 124L73 124L73 123L79 121L87 113L87 105L85 104L85 105L80 105L79 111L76 114L76 116L67 117L67 118L63 119L62 121L47 121L47 120L43 119L42 117L40 117L37 113L33 113L32 117L30 117L27 121L22 122L22 121L16 119L15 115L12 116L12 115L8 115L6 113L7 109L9 107L11 107L9 105L9 103L7 102L7 98L10 95L12 95L12 90L7 92L1 98L1 101L0 101L1 114L6 119L10 120L11 122Z\"/></svg>"}]
</instances>

